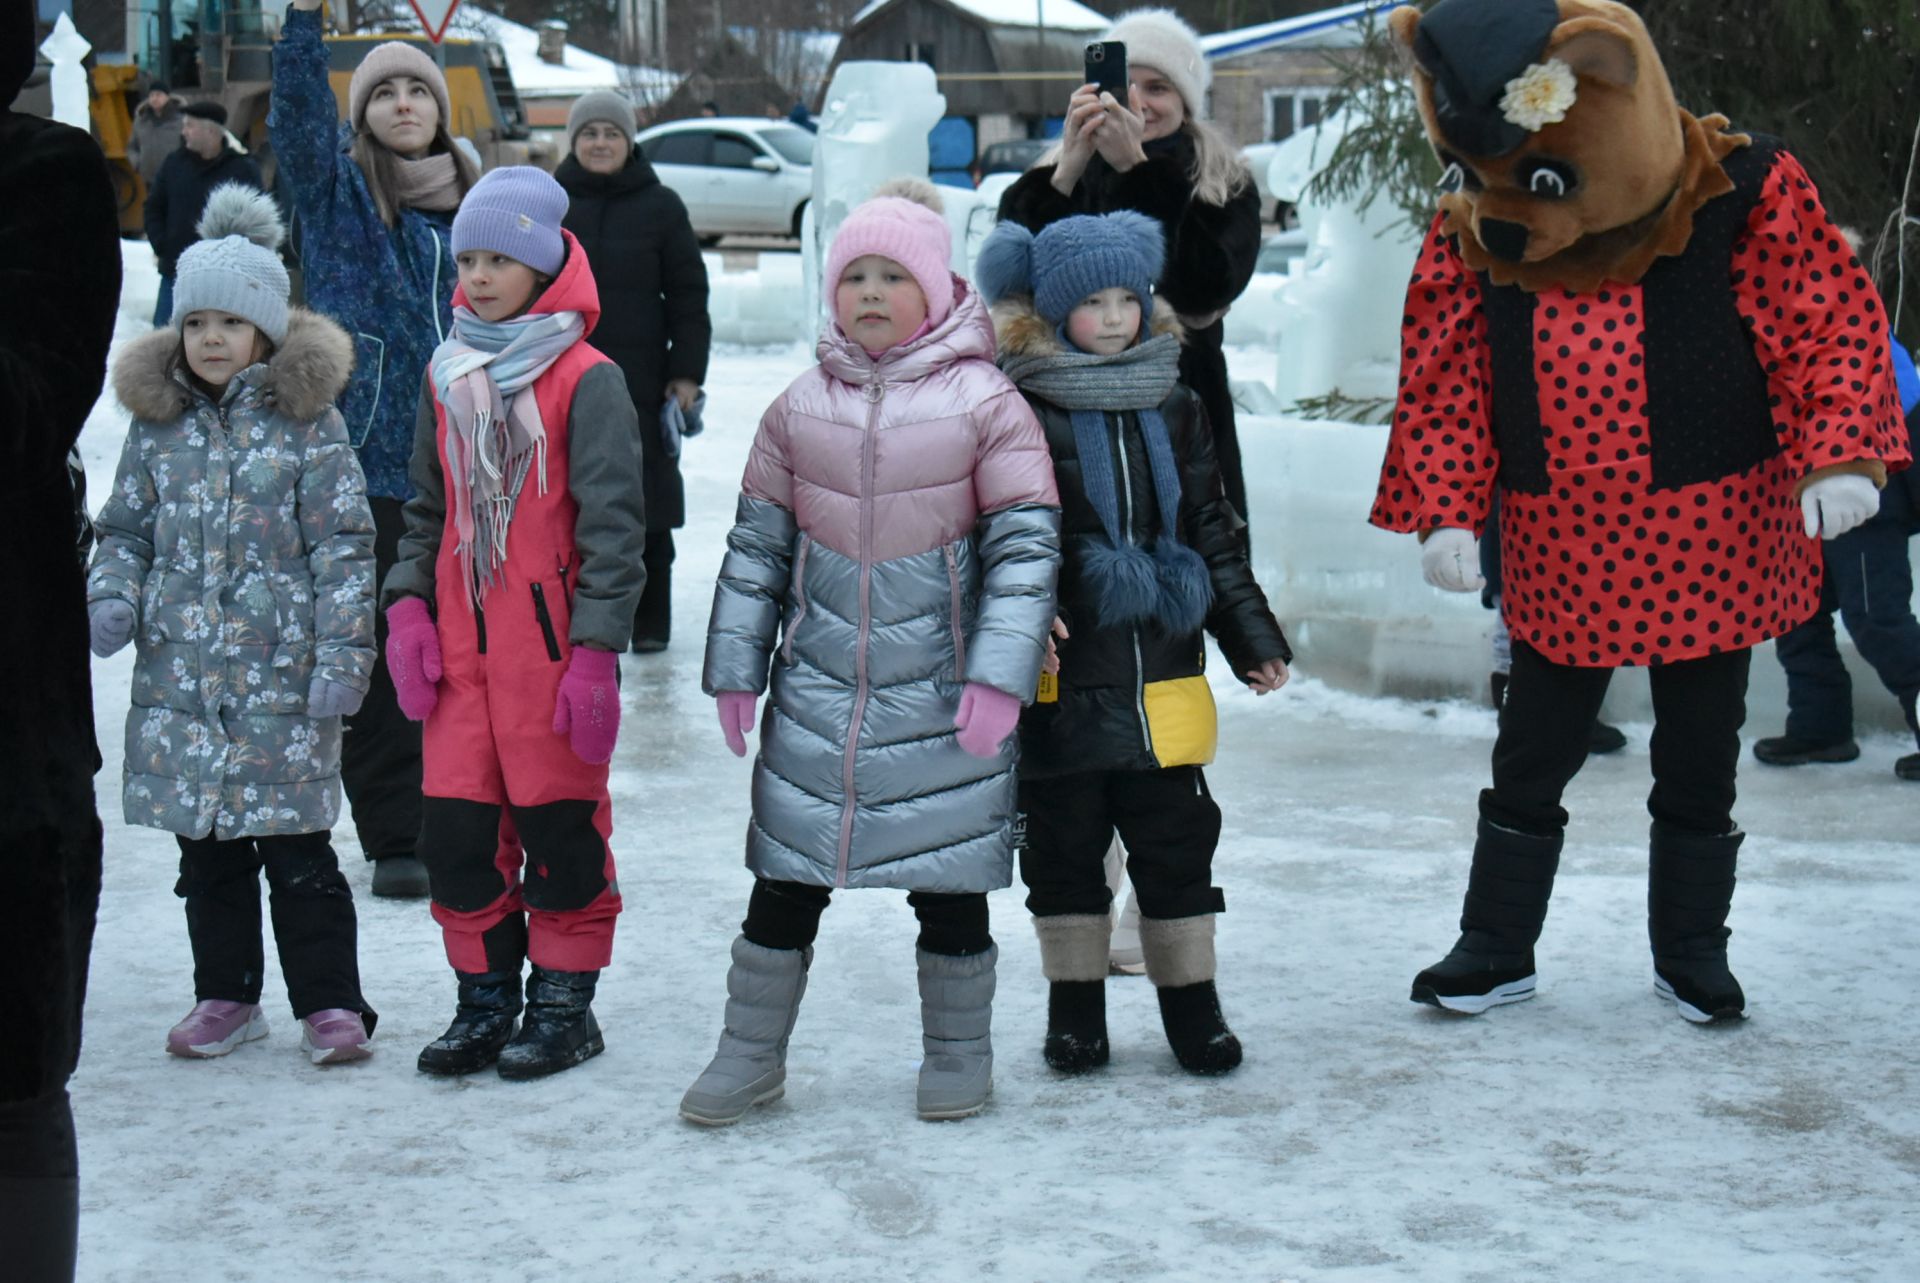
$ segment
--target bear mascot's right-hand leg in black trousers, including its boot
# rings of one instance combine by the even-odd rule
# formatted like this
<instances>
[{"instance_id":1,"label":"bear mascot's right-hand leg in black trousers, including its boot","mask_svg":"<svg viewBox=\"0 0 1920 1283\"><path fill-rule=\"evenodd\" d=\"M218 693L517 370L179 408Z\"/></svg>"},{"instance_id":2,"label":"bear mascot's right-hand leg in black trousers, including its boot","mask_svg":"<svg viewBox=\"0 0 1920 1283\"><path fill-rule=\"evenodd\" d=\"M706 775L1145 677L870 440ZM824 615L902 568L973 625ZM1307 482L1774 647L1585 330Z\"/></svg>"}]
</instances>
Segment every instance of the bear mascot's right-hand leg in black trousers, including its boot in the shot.
<instances>
[{"instance_id":1,"label":"bear mascot's right-hand leg in black trousers, including its boot","mask_svg":"<svg viewBox=\"0 0 1920 1283\"><path fill-rule=\"evenodd\" d=\"M1655 989L1693 1024L1745 1016L1726 962L1740 843L1734 774L1753 651L1653 668L1647 939Z\"/></svg>"}]
</instances>

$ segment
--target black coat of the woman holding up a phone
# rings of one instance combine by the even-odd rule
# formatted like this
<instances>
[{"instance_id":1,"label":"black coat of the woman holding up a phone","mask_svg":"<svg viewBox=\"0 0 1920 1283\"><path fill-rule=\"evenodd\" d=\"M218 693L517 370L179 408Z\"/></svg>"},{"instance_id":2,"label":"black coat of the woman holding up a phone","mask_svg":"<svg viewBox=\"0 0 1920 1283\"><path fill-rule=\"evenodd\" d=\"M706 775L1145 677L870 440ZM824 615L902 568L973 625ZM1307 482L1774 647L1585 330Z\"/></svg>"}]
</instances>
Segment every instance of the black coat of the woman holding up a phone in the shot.
<instances>
[{"instance_id":1,"label":"black coat of the woman holding up a phone","mask_svg":"<svg viewBox=\"0 0 1920 1283\"><path fill-rule=\"evenodd\" d=\"M1071 196L1054 190L1054 167L1029 169L1000 198L1000 217L1027 230L1073 213L1112 213L1137 209L1167 229L1167 265L1154 286L1154 298L1173 305L1188 321L1181 350L1181 382L1200 394L1213 448L1219 455L1227 497L1246 517L1246 480L1240 474L1240 438L1233 421L1233 392L1227 386L1227 355L1221 351L1223 313L1254 278L1260 257L1260 192L1248 182L1225 204L1213 206L1194 196L1188 177L1194 144L1185 133L1146 144L1146 163L1117 173L1094 156Z\"/></svg>"}]
</instances>

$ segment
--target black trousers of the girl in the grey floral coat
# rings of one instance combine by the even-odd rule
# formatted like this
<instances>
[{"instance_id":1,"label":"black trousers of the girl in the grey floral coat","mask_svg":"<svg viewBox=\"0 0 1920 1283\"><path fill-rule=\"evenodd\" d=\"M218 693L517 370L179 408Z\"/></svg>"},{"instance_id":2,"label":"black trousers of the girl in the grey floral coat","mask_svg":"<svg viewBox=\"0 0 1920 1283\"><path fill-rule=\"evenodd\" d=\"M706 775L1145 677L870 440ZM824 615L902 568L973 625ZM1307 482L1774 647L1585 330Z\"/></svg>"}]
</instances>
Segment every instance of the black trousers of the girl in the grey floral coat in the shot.
<instances>
[{"instance_id":1,"label":"black trousers of the girl in the grey floral coat","mask_svg":"<svg viewBox=\"0 0 1920 1283\"><path fill-rule=\"evenodd\" d=\"M275 837L180 837L186 935L194 943L194 999L259 1003L265 955L259 941L259 872L267 870L273 941L280 951L294 1016L344 1006L374 1014L359 987L359 924L353 891L340 872L330 834Z\"/></svg>"}]
</instances>

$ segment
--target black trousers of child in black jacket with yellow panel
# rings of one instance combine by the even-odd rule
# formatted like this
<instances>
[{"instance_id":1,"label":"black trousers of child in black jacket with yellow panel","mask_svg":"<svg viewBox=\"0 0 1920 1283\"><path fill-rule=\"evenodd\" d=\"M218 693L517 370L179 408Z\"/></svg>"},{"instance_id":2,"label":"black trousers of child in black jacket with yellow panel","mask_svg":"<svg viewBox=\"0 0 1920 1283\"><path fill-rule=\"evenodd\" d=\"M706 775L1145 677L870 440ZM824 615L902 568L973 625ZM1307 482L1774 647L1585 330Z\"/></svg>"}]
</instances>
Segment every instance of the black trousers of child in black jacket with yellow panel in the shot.
<instances>
[{"instance_id":1,"label":"black trousers of child in black jacket with yellow panel","mask_svg":"<svg viewBox=\"0 0 1920 1283\"><path fill-rule=\"evenodd\" d=\"M1127 878L1142 918L1223 912L1213 885L1219 807L1198 766L1085 770L1020 782L1027 843L1020 880L1035 918L1110 912L1106 849L1127 845Z\"/></svg>"}]
</instances>

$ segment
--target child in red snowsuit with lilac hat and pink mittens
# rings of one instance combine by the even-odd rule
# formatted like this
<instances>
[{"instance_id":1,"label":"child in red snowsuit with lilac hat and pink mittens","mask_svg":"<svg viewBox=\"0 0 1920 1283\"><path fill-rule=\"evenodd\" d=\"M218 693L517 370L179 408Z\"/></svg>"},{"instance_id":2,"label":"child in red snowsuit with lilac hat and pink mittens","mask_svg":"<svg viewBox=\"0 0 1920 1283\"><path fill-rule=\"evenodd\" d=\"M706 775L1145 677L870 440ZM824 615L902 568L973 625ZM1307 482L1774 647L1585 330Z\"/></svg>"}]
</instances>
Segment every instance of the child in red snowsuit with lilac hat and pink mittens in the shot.
<instances>
[{"instance_id":1,"label":"child in red snowsuit with lilac hat and pink mittens","mask_svg":"<svg viewBox=\"0 0 1920 1283\"><path fill-rule=\"evenodd\" d=\"M586 342L599 292L564 213L553 179L509 167L453 219L453 334L420 392L382 592L401 711L426 722L420 860L459 978L426 1074L497 1060L538 1077L603 1051L591 1001L620 912L607 763L645 515L634 403Z\"/></svg>"}]
</instances>

